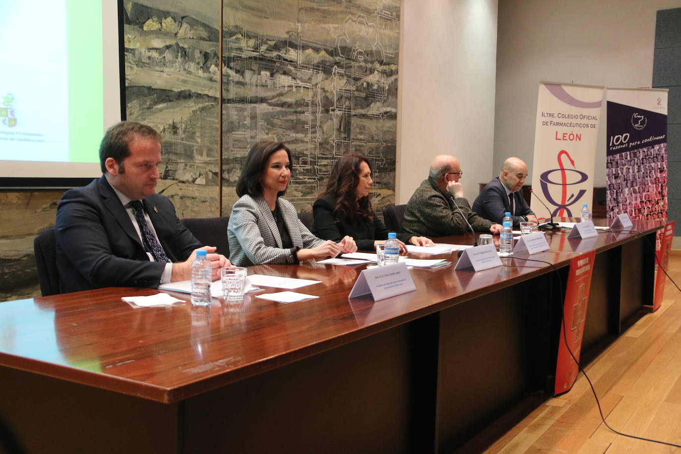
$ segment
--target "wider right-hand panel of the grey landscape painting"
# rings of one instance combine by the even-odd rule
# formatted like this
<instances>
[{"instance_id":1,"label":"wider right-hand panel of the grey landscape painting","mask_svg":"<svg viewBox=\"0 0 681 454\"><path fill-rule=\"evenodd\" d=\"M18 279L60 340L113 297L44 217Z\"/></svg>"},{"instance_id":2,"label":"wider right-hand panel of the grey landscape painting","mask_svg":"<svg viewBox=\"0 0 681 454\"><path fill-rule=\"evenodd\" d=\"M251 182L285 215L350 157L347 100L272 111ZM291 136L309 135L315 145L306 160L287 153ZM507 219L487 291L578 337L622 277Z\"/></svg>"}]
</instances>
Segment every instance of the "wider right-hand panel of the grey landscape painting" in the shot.
<instances>
[{"instance_id":1,"label":"wider right-hand panel of the grey landscape painting","mask_svg":"<svg viewBox=\"0 0 681 454\"><path fill-rule=\"evenodd\" d=\"M351 151L373 165L375 211L394 203L399 14L399 0L223 1L223 215L259 140L291 148L298 211Z\"/></svg>"}]
</instances>

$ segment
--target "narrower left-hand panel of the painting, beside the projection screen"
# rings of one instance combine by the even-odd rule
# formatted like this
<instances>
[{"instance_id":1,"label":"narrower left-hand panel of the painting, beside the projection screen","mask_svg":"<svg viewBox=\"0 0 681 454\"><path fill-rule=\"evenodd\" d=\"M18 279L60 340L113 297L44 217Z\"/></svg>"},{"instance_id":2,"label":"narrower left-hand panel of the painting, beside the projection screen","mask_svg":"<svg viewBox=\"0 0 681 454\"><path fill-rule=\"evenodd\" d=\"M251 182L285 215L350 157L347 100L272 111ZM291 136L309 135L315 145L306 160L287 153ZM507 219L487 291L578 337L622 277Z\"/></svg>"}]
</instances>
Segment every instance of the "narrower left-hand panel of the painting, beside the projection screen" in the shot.
<instances>
[{"instance_id":1,"label":"narrower left-hand panel of the painting, beside the projection screen","mask_svg":"<svg viewBox=\"0 0 681 454\"><path fill-rule=\"evenodd\" d=\"M218 215L217 0L123 3L127 119L163 136L157 191L178 217Z\"/></svg>"}]
</instances>

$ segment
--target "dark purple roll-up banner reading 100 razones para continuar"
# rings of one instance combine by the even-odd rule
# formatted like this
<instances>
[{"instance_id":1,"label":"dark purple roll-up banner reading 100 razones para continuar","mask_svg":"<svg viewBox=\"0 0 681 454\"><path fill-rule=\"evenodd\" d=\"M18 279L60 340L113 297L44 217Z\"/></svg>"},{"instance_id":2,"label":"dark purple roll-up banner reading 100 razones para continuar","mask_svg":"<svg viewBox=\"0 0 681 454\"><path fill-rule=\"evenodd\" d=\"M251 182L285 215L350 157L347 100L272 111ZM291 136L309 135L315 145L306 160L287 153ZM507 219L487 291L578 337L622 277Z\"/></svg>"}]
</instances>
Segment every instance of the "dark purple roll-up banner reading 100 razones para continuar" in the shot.
<instances>
[{"instance_id":1,"label":"dark purple roll-up banner reading 100 razones para continuar","mask_svg":"<svg viewBox=\"0 0 681 454\"><path fill-rule=\"evenodd\" d=\"M667 218L667 89L607 88L607 218Z\"/></svg>"}]
</instances>

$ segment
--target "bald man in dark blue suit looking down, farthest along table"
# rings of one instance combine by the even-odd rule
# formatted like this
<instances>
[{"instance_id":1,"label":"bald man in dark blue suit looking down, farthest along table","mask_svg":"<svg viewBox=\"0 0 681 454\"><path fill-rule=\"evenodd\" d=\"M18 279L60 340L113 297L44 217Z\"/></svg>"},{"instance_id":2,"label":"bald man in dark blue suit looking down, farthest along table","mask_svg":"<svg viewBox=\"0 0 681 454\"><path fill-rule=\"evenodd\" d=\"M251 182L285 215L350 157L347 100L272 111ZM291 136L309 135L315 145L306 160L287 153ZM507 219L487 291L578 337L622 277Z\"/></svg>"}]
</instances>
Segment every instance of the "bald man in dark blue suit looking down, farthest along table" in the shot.
<instances>
[{"instance_id":1,"label":"bald man in dark blue suit looking down, farthest along table","mask_svg":"<svg viewBox=\"0 0 681 454\"><path fill-rule=\"evenodd\" d=\"M510 212L513 227L520 227L520 223L524 221L538 225L537 216L530 210L520 191L525 184L525 178L527 165L522 159L507 159L501 166L499 176L488 182L485 189L475 198L473 211L497 223L501 223L505 212Z\"/></svg>"}]
</instances>

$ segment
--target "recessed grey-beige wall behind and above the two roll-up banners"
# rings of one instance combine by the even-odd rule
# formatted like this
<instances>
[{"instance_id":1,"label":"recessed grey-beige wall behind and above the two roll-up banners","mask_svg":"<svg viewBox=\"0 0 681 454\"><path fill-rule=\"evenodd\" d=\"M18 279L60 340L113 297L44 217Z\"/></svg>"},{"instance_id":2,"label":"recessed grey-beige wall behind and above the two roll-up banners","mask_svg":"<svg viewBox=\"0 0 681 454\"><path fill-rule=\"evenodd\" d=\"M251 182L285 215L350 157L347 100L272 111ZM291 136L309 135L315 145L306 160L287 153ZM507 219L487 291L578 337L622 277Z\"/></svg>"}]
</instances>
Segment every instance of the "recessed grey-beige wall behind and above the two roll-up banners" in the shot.
<instances>
[{"instance_id":1,"label":"recessed grey-beige wall behind and above the two roll-up banners","mask_svg":"<svg viewBox=\"0 0 681 454\"><path fill-rule=\"evenodd\" d=\"M494 168L534 154L539 81L612 87L652 84L657 10L681 0L501 0L498 11ZM605 110L595 183L605 182Z\"/></svg>"}]
</instances>

